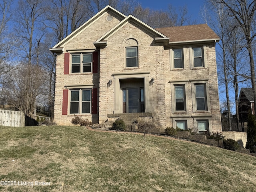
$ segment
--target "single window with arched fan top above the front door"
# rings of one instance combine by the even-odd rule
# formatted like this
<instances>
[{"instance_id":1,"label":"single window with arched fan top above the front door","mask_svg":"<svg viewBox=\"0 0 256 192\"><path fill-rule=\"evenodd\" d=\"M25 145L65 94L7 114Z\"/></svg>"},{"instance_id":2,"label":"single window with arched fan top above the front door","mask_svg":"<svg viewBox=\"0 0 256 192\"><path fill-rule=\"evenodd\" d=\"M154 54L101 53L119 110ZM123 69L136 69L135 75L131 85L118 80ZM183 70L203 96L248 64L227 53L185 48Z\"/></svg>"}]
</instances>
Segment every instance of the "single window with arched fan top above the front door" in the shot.
<instances>
[{"instance_id":1,"label":"single window with arched fan top above the front door","mask_svg":"<svg viewBox=\"0 0 256 192\"><path fill-rule=\"evenodd\" d=\"M128 39L125 42L126 67L138 67L138 42Z\"/></svg>"}]
</instances>

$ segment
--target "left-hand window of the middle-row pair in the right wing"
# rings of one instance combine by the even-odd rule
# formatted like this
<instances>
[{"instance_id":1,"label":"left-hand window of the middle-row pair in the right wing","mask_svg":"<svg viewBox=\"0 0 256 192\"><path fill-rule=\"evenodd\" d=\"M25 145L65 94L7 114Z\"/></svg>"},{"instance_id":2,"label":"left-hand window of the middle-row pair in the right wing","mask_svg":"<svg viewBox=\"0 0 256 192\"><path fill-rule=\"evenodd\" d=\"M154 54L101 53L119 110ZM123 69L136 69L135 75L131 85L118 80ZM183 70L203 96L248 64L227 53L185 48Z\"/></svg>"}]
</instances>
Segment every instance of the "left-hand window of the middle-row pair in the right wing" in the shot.
<instances>
[{"instance_id":1,"label":"left-hand window of the middle-row pair in the right wing","mask_svg":"<svg viewBox=\"0 0 256 192\"><path fill-rule=\"evenodd\" d=\"M176 111L185 111L186 102L185 102L185 88L184 85L175 85L175 102L176 102Z\"/></svg>"}]
</instances>

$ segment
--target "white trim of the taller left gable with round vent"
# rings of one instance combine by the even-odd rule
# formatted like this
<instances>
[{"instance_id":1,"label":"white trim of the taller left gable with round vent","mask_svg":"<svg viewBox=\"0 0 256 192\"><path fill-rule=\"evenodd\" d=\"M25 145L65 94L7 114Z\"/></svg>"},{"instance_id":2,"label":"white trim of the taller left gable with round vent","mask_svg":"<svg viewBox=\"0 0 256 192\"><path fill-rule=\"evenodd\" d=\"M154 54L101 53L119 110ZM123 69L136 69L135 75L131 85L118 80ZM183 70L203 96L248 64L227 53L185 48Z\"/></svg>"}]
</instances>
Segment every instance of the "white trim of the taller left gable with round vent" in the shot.
<instances>
[{"instance_id":1,"label":"white trim of the taller left gable with round vent","mask_svg":"<svg viewBox=\"0 0 256 192\"><path fill-rule=\"evenodd\" d=\"M86 28L88 28L90 25L92 25L94 22L96 22L100 16L102 16L105 12L107 12L108 10L112 10L113 12L115 12L117 15L126 18L126 15L122 14L121 12L119 12L118 10L114 9L113 7L111 7L110 5L106 6L104 9L102 9L100 12L98 12L96 15L94 15L92 18L90 18L87 22L85 22L84 24L82 24L79 28L77 28L76 30L74 30L71 34L69 34L68 36L66 36L66 38L64 38L62 41L60 41L58 44L56 44L53 49L59 47L59 46L63 46L65 44L67 44L70 40L72 40L73 38L75 38L76 36L78 36L83 30L85 30Z\"/></svg>"}]
</instances>

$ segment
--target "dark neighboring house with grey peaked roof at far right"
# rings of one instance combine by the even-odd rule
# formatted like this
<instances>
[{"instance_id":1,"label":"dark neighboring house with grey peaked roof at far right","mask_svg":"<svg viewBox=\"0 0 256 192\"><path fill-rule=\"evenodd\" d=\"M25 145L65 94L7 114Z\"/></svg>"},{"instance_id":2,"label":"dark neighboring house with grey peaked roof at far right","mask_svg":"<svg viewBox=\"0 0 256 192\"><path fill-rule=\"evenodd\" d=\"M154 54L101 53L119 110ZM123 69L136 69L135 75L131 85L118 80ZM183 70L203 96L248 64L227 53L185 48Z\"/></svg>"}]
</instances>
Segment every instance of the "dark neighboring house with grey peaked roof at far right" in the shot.
<instances>
[{"instance_id":1,"label":"dark neighboring house with grey peaked roof at far right","mask_svg":"<svg viewBox=\"0 0 256 192\"><path fill-rule=\"evenodd\" d=\"M239 121L248 121L248 112L254 114L254 99L252 88L241 88L238 98Z\"/></svg>"}]
</instances>

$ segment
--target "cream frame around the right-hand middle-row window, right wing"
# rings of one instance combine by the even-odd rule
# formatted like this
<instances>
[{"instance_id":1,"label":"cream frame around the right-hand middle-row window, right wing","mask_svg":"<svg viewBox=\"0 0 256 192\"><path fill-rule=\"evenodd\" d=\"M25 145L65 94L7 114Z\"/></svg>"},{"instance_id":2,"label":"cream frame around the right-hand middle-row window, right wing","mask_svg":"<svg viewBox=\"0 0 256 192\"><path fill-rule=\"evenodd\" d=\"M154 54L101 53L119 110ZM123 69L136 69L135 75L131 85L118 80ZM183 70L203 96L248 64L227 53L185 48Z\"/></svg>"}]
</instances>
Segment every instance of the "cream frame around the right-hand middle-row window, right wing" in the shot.
<instances>
[{"instance_id":1,"label":"cream frame around the right-hand middle-row window, right wing","mask_svg":"<svg viewBox=\"0 0 256 192\"><path fill-rule=\"evenodd\" d=\"M196 110L196 88L195 84L205 84L206 88L206 110ZM192 103L193 103L193 112L210 112L210 92L209 92L209 83L208 81L194 81L191 82L191 90L192 90Z\"/></svg>"}]
</instances>

